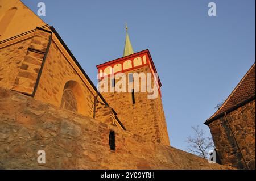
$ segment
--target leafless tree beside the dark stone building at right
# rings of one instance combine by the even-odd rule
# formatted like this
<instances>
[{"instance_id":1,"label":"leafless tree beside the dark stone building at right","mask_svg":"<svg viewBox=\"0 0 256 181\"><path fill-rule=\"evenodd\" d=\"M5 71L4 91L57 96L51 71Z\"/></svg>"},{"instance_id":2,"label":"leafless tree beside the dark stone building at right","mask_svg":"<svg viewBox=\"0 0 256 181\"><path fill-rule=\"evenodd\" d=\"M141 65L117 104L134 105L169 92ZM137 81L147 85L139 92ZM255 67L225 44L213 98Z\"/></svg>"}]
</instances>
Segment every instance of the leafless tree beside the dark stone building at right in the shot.
<instances>
[{"instance_id":1,"label":"leafless tree beside the dark stone building at right","mask_svg":"<svg viewBox=\"0 0 256 181\"><path fill-rule=\"evenodd\" d=\"M199 125L192 127L193 136L187 137L188 151L192 154L196 154L199 157L208 159L209 151L214 149L214 142L210 136L205 136L203 129L199 128Z\"/></svg>"}]
</instances>

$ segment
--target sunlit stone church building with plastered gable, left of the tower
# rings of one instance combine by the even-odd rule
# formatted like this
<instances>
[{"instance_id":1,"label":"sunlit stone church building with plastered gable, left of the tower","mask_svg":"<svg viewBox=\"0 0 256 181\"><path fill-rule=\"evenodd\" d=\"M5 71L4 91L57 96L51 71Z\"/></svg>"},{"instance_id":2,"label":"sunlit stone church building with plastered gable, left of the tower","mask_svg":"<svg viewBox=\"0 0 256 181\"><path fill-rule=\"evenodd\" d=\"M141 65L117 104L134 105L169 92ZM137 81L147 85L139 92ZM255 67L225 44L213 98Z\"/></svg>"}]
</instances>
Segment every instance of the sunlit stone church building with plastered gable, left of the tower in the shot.
<instances>
[{"instance_id":1,"label":"sunlit stone church building with plastered gable, left of the tower","mask_svg":"<svg viewBox=\"0 0 256 181\"><path fill-rule=\"evenodd\" d=\"M20 1L1 3L0 86L89 117L110 111L104 122L124 129L55 28Z\"/></svg>"}]
</instances>

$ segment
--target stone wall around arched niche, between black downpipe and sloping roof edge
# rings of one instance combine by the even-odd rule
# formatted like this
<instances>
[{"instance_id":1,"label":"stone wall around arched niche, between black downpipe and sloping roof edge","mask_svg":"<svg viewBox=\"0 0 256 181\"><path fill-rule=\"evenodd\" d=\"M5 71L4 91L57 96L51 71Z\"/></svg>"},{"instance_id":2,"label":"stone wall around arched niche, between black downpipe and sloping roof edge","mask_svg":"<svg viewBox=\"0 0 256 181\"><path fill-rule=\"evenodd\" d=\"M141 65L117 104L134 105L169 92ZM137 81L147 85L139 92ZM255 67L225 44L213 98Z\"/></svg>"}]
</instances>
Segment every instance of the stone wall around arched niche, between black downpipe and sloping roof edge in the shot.
<instances>
[{"instance_id":1,"label":"stone wall around arched niche, between black downpipe and sloping roof edge","mask_svg":"<svg viewBox=\"0 0 256 181\"><path fill-rule=\"evenodd\" d=\"M85 104L85 110L79 113L92 117L94 110L94 96L92 92L90 92L75 69L69 64L56 43L52 41L46 62L44 63L38 89L36 90L35 99L60 106L64 86L68 81L79 83L81 88L82 94L80 94L79 99Z\"/></svg>"}]
</instances>

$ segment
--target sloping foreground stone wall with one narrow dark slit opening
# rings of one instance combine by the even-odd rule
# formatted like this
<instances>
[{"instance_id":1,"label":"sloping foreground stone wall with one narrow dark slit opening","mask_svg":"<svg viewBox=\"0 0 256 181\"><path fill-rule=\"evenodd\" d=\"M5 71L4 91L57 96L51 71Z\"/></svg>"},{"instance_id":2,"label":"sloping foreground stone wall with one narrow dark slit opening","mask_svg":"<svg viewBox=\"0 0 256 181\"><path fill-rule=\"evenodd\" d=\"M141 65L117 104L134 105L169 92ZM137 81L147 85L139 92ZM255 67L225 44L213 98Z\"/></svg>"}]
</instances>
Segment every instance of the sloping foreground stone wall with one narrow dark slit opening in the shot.
<instances>
[{"instance_id":1,"label":"sloping foreground stone wall with one narrow dark slit opening","mask_svg":"<svg viewBox=\"0 0 256 181\"><path fill-rule=\"evenodd\" d=\"M115 131L115 151L109 131ZM37 162L46 151L46 164ZM0 88L1 169L228 169Z\"/></svg>"}]
</instances>

